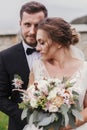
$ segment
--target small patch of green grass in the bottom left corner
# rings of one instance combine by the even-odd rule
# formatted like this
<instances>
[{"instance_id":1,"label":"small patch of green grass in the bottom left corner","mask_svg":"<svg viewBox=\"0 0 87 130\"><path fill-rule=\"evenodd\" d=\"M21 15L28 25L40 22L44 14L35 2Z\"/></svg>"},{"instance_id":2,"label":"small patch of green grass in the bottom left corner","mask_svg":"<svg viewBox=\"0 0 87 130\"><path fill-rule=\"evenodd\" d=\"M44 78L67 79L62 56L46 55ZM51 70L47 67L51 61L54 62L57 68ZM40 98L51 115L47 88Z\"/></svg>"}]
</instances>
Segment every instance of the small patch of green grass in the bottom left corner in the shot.
<instances>
[{"instance_id":1,"label":"small patch of green grass in the bottom left corner","mask_svg":"<svg viewBox=\"0 0 87 130\"><path fill-rule=\"evenodd\" d=\"M0 130L8 129L8 116L0 112Z\"/></svg>"}]
</instances>

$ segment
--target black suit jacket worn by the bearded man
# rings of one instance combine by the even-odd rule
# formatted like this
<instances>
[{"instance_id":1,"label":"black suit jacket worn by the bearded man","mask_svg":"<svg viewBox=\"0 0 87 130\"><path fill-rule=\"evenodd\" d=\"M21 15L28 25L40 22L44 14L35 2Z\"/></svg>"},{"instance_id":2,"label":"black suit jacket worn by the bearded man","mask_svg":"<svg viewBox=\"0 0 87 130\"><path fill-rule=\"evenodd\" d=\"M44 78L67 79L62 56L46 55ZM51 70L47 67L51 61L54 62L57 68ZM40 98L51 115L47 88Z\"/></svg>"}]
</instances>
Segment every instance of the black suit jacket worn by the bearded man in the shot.
<instances>
[{"instance_id":1,"label":"black suit jacket worn by the bearded man","mask_svg":"<svg viewBox=\"0 0 87 130\"><path fill-rule=\"evenodd\" d=\"M22 43L0 52L0 111L9 116L8 130L22 130L26 124L21 120L18 103L21 102L19 92L13 92L12 80L18 74L24 81L23 89L27 88L29 67Z\"/></svg>"}]
</instances>

